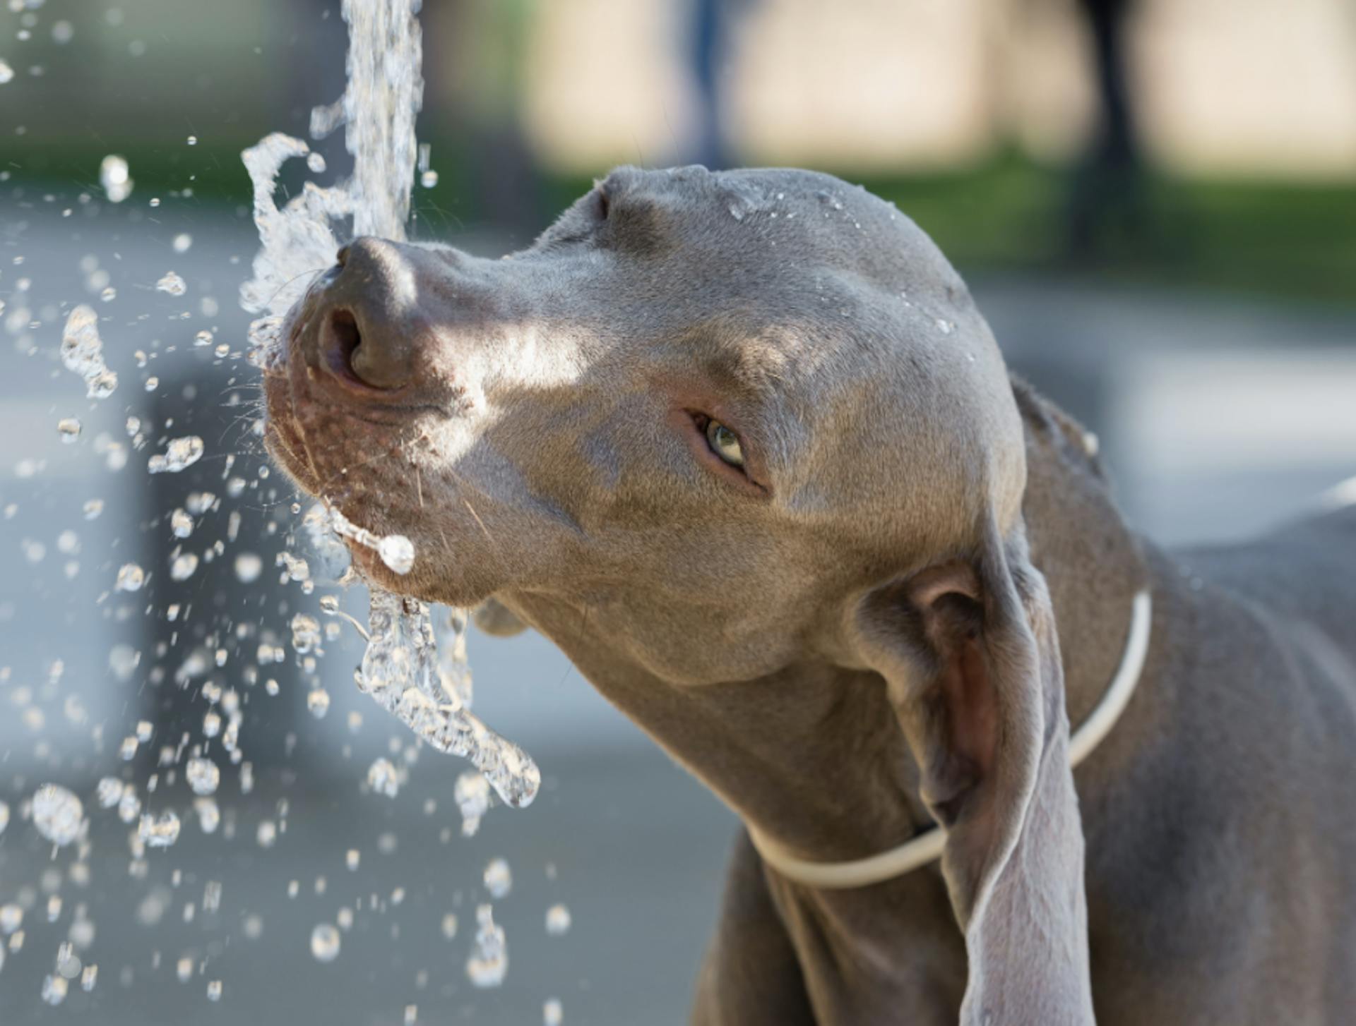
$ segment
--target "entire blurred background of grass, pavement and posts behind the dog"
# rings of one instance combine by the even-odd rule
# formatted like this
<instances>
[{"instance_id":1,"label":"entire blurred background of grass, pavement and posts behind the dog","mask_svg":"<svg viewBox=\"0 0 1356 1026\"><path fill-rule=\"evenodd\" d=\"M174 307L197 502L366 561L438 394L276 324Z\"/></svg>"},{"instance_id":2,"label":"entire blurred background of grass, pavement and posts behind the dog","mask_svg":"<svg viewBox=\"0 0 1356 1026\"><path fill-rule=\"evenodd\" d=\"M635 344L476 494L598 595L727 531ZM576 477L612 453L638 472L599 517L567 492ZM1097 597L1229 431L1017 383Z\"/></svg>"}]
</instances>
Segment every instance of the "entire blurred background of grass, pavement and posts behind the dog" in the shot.
<instances>
[{"instance_id":1,"label":"entire blurred background of grass, pavement and posts behind the dog","mask_svg":"<svg viewBox=\"0 0 1356 1026\"><path fill-rule=\"evenodd\" d=\"M1098 434L1155 539L1242 538L1356 473L1347 0L428 0L420 22L435 173L415 188L416 239L522 247L617 163L830 171L933 234L1012 366ZM552 998L565 1022L685 1021L735 827L713 797L546 641L473 636L476 709L545 786L461 838L464 766L412 750L355 691L357 636L328 637L315 665L289 648L292 615L336 590L319 561L312 591L275 562L306 546L240 358L258 240L239 155L305 137L343 89L344 49L338 0L0 8L4 1026L400 1023L407 1006L538 1022ZM317 149L330 171L312 178L347 173L338 134ZM119 202L108 155L129 165ZM182 294L155 287L171 270ZM80 302L121 378L100 403L58 358ZM184 434L203 459L146 477ZM170 511L193 492L221 501L178 538ZM174 581L183 552L199 568ZM129 561L146 584L115 591ZM342 600L363 618L361 590ZM222 763L213 834L159 766L209 686L240 701L251 767ZM396 798L365 783L380 756L401 767ZM178 809L178 843L129 844L98 808L106 775ZM84 800L85 848L54 853L27 821L46 781ZM510 969L476 989L464 965L496 857L514 874L494 903ZM556 903L563 937L544 926ZM312 956L319 923L340 926L332 962ZM68 938L98 983L53 1003Z\"/></svg>"}]
</instances>

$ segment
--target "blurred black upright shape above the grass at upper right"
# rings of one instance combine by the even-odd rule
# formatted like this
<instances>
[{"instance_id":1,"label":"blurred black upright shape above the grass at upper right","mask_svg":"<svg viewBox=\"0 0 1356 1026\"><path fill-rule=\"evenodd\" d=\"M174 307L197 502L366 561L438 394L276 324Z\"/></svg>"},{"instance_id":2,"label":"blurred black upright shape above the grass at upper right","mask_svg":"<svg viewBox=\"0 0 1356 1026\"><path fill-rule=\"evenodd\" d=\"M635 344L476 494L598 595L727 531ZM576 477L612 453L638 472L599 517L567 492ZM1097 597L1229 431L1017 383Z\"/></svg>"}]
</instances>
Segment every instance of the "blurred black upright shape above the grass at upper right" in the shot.
<instances>
[{"instance_id":1,"label":"blurred black upright shape above the grass at upper right","mask_svg":"<svg viewBox=\"0 0 1356 1026\"><path fill-rule=\"evenodd\" d=\"M1125 22L1135 0L1078 0L1096 61L1101 126L1074 173L1069 198L1069 256L1101 255L1108 228L1134 239L1143 229L1143 175L1130 79Z\"/></svg>"}]
</instances>

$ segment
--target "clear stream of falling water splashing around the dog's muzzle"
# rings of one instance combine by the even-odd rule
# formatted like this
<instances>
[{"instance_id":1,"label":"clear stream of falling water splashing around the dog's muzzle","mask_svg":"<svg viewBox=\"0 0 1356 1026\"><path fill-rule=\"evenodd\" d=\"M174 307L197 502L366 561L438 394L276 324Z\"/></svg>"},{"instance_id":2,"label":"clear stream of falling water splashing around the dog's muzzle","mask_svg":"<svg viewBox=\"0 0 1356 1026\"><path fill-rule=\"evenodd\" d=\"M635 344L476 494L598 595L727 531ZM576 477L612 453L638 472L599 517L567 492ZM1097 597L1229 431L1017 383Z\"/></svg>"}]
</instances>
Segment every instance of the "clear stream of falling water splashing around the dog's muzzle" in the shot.
<instances>
[{"instance_id":1,"label":"clear stream of falling water splashing around the dog's muzzle","mask_svg":"<svg viewBox=\"0 0 1356 1026\"><path fill-rule=\"evenodd\" d=\"M348 85L339 100L311 112L311 134L319 140L344 126L344 148L354 160L347 182L331 187L306 182L298 197L278 209L278 172L293 157L315 156L309 145L275 133L243 155L254 182L260 248L241 302L264 314L251 325L260 365L279 355L282 314L305 293L315 272L332 263L336 222L351 220L355 236L405 237L419 160L415 115L423 102L415 19L419 5L419 0L344 0ZM416 553L408 538L377 535L335 508L328 514L335 534L376 550L396 573L412 569ZM446 641L456 659L449 663L446 656L439 659L427 604L372 587L370 633L358 686L431 747L469 759L509 805L523 806L541 783L537 766L471 713L469 694L443 686L452 678L469 680L465 623L464 613L450 617Z\"/></svg>"}]
</instances>

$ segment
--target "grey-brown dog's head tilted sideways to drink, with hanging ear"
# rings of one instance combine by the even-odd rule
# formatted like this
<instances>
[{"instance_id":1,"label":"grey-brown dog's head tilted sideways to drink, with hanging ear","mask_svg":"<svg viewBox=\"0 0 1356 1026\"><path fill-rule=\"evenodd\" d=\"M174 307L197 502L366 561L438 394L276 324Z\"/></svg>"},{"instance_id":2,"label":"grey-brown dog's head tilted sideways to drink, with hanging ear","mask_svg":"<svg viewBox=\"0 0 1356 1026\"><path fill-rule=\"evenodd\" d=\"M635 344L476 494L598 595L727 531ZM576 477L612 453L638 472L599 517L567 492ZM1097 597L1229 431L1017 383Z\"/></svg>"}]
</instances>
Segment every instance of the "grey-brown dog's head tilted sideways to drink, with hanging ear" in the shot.
<instances>
[{"instance_id":1,"label":"grey-brown dog's head tilted sideways to drink, with hanging ear","mask_svg":"<svg viewBox=\"0 0 1356 1026\"><path fill-rule=\"evenodd\" d=\"M804 171L622 168L504 260L359 239L286 336L270 449L414 541L405 577L355 553L380 584L587 610L667 686L877 671L961 920L1002 897L1060 773L1058 648L1002 359L909 218Z\"/></svg>"}]
</instances>

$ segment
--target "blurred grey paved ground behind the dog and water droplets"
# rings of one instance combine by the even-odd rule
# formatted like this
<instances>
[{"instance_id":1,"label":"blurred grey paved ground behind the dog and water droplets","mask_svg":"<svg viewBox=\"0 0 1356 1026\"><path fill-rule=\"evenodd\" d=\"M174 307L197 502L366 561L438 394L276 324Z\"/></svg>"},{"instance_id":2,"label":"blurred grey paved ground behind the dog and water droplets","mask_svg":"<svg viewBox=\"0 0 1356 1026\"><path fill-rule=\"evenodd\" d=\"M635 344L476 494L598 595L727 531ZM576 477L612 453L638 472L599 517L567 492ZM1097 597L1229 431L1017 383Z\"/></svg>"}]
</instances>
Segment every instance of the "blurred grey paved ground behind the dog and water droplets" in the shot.
<instances>
[{"instance_id":1,"label":"blurred grey paved ground behind the dog and water droplets","mask_svg":"<svg viewBox=\"0 0 1356 1026\"><path fill-rule=\"evenodd\" d=\"M248 370L231 361L214 366L210 350L195 350L190 340L216 327L239 348L244 317L233 295L244 264L231 256L248 262L254 236L241 220L191 207L167 205L156 222L142 210L142 220L129 224L125 210L92 216L77 207L61 218L60 203L34 199L33 209L0 211L0 300L7 304L0 312L0 507L15 504L0 520L0 667L9 668L0 678L0 800L14 810L0 835L0 904L28 907L22 950L11 950L0 969L0 1023L397 1023L411 1003L419 1006L419 1022L532 1023L549 996L561 999L574 1023L682 1022L734 823L541 638L472 642L477 707L536 754L546 773L533 808L491 812L475 839L439 840L445 828L456 831L458 817L450 798L454 767L437 755L420 756L399 798L361 793L367 764L400 733L351 689L357 648L350 640L332 644L323 661L334 695L324 720L306 714L301 689L286 676L278 698L252 695L245 744L258 785L241 796L228 773L222 834L203 838L186 821L179 843L152 853L145 876L133 877L127 828L95 810L91 882L71 878L69 855L50 858L18 815L35 783L60 779L89 797L100 774L118 770L114 750L138 717L155 714L161 737L174 737L175 717L202 710L193 701L175 705L172 693L138 689L137 678L119 683L107 671L114 644L151 653L157 638L167 640L144 610L165 594L157 591L164 530L142 527L159 506L179 500L172 489L188 484L159 478L152 489L141 469L145 453L110 472L94 439L100 431L125 438L129 413L156 420L159 431L175 404L186 411L180 417L235 412L216 404L231 394L232 375L247 394ZM184 230L194 244L176 253L171 240ZM56 359L69 302L91 301L88 272L79 267L85 255L98 258L118 290L108 304L92 300L110 317L110 363L123 377L115 398L98 408ZM24 262L15 264L15 256ZM188 281L182 300L148 287L170 268ZM1050 282L979 282L976 294L1013 365L1100 432L1128 516L1157 537L1242 535L1356 474L1351 312ZM205 295L217 300L218 313L202 312ZM137 350L155 354L148 367L136 366ZM160 382L148 392L152 373ZM202 385L201 393L184 398L186 384ZM75 446L57 439L64 416L85 422ZM224 457L237 453L235 472L256 474L247 439L220 430L205 435L203 473L220 481ZM87 522L80 507L96 496L106 511ZM260 499L245 507L241 530L267 554L263 530L274 514L266 506ZM62 550L65 530L77 531L79 552ZM38 560L34 543L43 546ZM136 600L100 602L117 567L133 557L161 577ZM71 561L79 562L73 579L65 569ZM220 581L201 573L199 580ZM202 587L206 602L217 586ZM231 595L270 610L301 602L294 586L260 583ZM52 683L56 659L62 672ZM71 697L84 709L83 722L64 707ZM41 724L33 709L42 712ZM347 725L350 712L363 717L357 733ZM91 741L96 724L103 724L102 751ZM144 781L149 762L136 767ZM182 793L161 793L161 800L186 805ZM435 802L431 813L427 800ZM267 850L255 840L264 819L286 821ZM384 854L385 834L395 850ZM361 851L357 871L344 866L348 848ZM507 928L510 972L503 988L484 992L468 985L462 965L483 897L480 873L494 857L509 859L515 880L513 893L495 903ZM316 893L319 877L323 895ZM201 911L209 880L222 884L217 914ZM296 899L287 897L292 880L298 881ZM404 889L400 904L396 888ZM52 924L49 890L64 899ZM574 915L564 938L546 937L542 926L553 901L567 903ZM195 915L186 923L190 903ZM91 995L73 988L64 1006L49 1008L38 996L42 976L80 905L96 924L88 958L99 964L99 983ZM309 934L340 908L353 911L354 924L339 958L321 965L309 953ZM439 932L449 911L460 919L452 941ZM194 960L188 983L175 974L182 957ZM206 985L216 979L224 993L210 1003Z\"/></svg>"}]
</instances>

